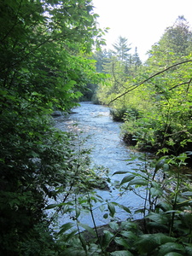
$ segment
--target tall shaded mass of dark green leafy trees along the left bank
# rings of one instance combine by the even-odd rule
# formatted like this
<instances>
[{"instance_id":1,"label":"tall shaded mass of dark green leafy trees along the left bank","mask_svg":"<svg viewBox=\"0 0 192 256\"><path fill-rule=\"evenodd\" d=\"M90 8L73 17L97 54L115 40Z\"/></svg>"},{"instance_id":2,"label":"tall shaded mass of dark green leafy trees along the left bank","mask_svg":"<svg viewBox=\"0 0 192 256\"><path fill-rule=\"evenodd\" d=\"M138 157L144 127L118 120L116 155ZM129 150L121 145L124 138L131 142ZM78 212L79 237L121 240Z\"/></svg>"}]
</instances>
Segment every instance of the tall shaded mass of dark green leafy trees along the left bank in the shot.
<instances>
[{"instance_id":1,"label":"tall shaded mass of dark green leafy trees along the left bank","mask_svg":"<svg viewBox=\"0 0 192 256\"><path fill-rule=\"evenodd\" d=\"M50 113L68 111L88 81L99 79L86 57L102 43L92 9L89 0L0 3L2 255L54 250L44 208L61 192L53 188L72 183L78 164L70 138L52 128Z\"/></svg>"}]
</instances>

